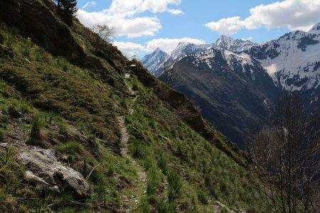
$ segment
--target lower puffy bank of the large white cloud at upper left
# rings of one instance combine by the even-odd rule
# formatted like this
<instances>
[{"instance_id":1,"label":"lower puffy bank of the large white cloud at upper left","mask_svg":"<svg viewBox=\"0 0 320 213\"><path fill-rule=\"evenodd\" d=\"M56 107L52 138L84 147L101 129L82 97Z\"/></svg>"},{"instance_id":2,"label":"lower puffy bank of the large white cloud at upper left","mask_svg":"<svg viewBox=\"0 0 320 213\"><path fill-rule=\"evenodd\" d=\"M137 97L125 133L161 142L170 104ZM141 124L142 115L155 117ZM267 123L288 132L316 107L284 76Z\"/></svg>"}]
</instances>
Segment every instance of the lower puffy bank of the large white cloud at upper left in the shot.
<instances>
[{"instance_id":1,"label":"lower puffy bank of the large white cloud at upper left","mask_svg":"<svg viewBox=\"0 0 320 213\"><path fill-rule=\"evenodd\" d=\"M110 15L103 11L89 13L81 9L77 15L85 26L100 23L113 27L117 36L126 35L129 38L150 36L161 29L159 19L154 17L126 18L121 14Z\"/></svg>"}]
</instances>

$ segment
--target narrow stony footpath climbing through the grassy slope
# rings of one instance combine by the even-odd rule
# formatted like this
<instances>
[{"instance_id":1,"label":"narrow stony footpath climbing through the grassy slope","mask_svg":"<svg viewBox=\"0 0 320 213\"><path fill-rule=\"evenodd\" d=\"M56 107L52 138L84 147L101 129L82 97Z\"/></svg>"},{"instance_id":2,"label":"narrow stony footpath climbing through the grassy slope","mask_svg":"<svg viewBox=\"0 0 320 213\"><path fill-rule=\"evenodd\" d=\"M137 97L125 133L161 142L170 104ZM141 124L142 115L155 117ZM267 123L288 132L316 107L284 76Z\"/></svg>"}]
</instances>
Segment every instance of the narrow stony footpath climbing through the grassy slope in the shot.
<instances>
[{"instance_id":1,"label":"narrow stony footpath climbing through the grassy slope","mask_svg":"<svg viewBox=\"0 0 320 213\"><path fill-rule=\"evenodd\" d=\"M128 87L128 89L133 96L135 92L132 90L131 87ZM135 96L131 101L130 107L128 109L129 114L134 114L134 109L132 109L131 106L134 104L136 100L137 100L137 96ZM134 182L132 182L132 185L134 186L134 188L132 189L132 191L134 192L134 195L132 195L131 197L124 197L125 202L127 202L126 203L127 206L130 208L130 209L127 209L126 212L133 212L134 210L137 209L139 201L146 193L146 171L144 170L144 168L142 168L141 165L139 165L139 163L137 163L137 160L132 158L132 156L129 153L129 149L128 149L129 133L125 125L124 116L119 116L118 122L121 130L121 143L122 143L122 148L120 149L121 155L124 158L129 159L132 165L134 165L134 167L137 168L138 178L134 180Z\"/></svg>"}]
</instances>

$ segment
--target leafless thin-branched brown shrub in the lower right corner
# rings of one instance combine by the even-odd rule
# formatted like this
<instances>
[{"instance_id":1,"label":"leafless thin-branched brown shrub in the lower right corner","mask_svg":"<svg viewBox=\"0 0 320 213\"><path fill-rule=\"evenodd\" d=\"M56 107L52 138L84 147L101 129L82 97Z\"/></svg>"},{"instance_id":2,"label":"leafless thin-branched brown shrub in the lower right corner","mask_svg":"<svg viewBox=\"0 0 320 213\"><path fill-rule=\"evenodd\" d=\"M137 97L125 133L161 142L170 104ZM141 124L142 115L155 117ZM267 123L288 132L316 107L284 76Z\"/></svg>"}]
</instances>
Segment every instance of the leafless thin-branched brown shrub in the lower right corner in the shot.
<instances>
[{"instance_id":1,"label":"leafless thin-branched brown shrub in the lower right corner","mask_svg":"<svg viewBox=\"0 0 320 213\"><path fill-rule=\"evenodd\" d=\"M277 104L272 129L250 143L261 180L255 186L274 212L319 212L320 112L306 116L303 103L287 95Z\"/></svg>"}]
</instances>

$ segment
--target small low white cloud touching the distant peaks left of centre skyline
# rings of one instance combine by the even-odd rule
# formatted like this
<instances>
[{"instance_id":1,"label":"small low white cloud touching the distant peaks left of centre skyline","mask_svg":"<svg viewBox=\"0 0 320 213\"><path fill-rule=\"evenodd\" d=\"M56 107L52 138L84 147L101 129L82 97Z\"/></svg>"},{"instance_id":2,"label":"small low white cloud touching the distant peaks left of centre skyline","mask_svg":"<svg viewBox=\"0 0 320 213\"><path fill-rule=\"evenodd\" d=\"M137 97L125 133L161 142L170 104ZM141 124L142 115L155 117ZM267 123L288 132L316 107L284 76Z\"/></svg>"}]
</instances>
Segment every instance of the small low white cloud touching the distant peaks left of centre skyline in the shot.
<instances>
[{"instance_id":1,"label":"small low white cloud touching the distant peaks left of centre skyline","mask_svg":"<svg viewBox=\"0 0 320 213\"><path fill-rule=\"evenodd\" d=\"M156 48L160 48L164 52L170 54L180 42L189 42L195 44L204 44L204 40L196 38L157 38L146 43L146 50L152 52Z\"/></svg>"}]
</instances>

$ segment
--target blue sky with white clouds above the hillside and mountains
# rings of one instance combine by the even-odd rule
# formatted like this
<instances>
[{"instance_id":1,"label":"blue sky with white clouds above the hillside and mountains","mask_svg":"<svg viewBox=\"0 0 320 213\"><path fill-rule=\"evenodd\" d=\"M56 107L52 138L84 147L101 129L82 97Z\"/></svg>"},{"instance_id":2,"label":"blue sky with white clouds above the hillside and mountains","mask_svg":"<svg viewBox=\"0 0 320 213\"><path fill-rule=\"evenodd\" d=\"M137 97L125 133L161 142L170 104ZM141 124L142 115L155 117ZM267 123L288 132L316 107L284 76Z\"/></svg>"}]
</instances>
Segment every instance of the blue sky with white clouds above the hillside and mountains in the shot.
<instances>
[{"instance_id":1,"label":"blue sky with white clouds above the hillside and mountains","mask_svg":"<svg viewBox=\"0 0 320 213\"><path fill-rule=\"evenodd\" d=\"M78 0L85 26L114 27L114 45L131 57L179 41L213 43L220 35L256 43L293 30L307 31L320 18L320 0Z\"/></svg>"}]
</instances>

